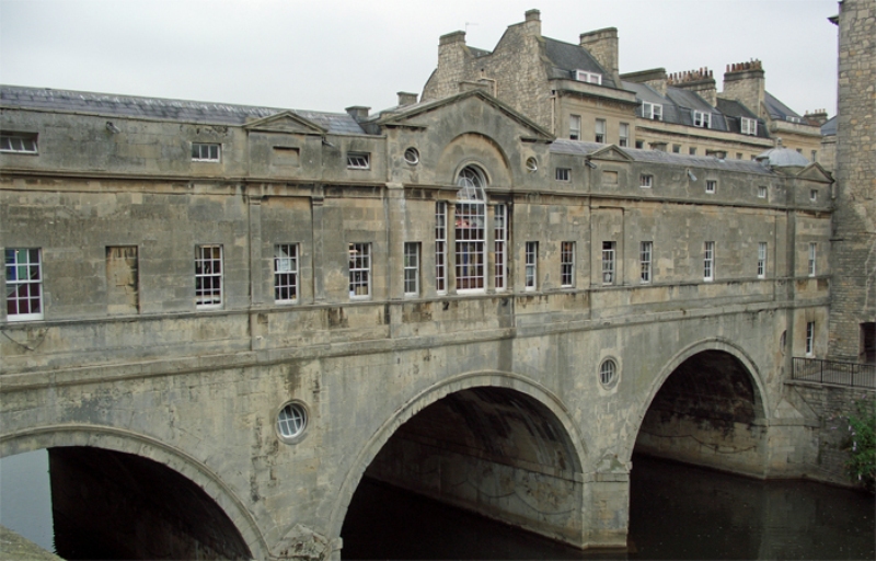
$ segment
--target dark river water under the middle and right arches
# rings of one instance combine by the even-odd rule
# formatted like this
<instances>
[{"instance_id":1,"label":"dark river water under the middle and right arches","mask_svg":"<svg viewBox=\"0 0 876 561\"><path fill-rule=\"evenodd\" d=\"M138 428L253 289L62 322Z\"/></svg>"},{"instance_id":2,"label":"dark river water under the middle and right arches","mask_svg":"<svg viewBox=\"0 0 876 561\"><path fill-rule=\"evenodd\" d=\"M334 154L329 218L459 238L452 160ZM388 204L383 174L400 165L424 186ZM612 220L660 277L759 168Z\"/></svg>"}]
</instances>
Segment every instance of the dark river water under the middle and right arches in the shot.
<instances>
[{"instance_id":1,"label":"dark river water under the middle and right arches","mask_svg":"<svg viewBox=\"0 0 876 561\"><path fill-rule=\"evenodd\" d=\"M757 481L633 459L629 552L560 546L365 481L344 559L876 559L876 500L808 481Z\"/></svg>"}]
</instances>

